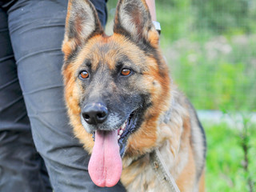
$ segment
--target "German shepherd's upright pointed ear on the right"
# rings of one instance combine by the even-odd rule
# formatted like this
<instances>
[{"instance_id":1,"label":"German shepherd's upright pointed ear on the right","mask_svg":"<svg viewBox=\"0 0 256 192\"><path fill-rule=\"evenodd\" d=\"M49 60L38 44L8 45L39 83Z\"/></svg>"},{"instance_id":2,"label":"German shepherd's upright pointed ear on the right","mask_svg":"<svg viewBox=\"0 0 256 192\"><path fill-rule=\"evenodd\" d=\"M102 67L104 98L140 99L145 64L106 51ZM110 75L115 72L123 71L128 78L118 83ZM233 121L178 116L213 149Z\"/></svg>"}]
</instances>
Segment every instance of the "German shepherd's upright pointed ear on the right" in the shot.
<instances>
[{"instance_id":1,"label":"German shepherd's upright pointed ear on the right","mask_svg":"<svg viewBox=\"0 0 256 192\"><path fill-rule=\"evenodd\" d=\"M146 40L151 46L158 46L159 34L154 28L145 0L119 0L114 33L129 36L135 42Z\"/></svg>"}]
</instances>

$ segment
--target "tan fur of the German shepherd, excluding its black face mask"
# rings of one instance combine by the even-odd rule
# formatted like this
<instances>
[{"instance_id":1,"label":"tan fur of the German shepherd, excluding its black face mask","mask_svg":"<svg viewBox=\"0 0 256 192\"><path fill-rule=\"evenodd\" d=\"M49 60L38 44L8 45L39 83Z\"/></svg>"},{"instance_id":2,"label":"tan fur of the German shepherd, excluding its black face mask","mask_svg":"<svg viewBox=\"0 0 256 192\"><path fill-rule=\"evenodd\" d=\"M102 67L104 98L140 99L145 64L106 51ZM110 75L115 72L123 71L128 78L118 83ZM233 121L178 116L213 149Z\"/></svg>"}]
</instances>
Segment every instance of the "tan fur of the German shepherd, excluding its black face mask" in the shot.
<instances>
[{"instance_id":1,"label":"tan fur of the German shepherd, excluding its black face mask","mask_svg":"<svg viewBox=\"0 0 256 192\"><path fill-rule=\"evenodd\" d=\"M98 26L98 18L94 19L94 24L89 23L89 25L82 24L85 21L76 20L81 17L72 18L76 21L74 27L78 30L78 34L69 34L68 28L71 24L68 21L72 16L70 14L74 14L76 9L76 6L72 6L73 1L70 1L66 17L67 30L62 46L66 62L62 74L70 124L74 127L75 136L91 153L94 141L92 135L86 132L81 123L79 102L81 102L85 90L82 87L82 82L77 80L77 73L84 61L90 59L92 61L91 70L94 71L98 69L98 65L101 65L102 69L106 69L104 72L107 76L107 73L115 70L118 59L125 55L130 62L136 64L133 67L137 71L142 71L142 75L136 78L136 82L130 82L130 86L140 93L150 94L151 106L147 108L143 116L142 125L128 138L126 154L122 158L122 184L127 191L133 192L165 191L150 166L149 153L158 148L179 189L182 192L202 192L204 191L202 169L205 163L205 154L203 154L205 146L197 115L187 99L172 84L166 62L159 50L158 32L154 30L154 26L149 20L150 14L146 2L144 0L132 2L134 5L138 4L138 9L142 9L144 12L138 9L134 10L139 14L133 17L133 14L130 15L123 8L130 2L121 0L118 3L114 34L108 37ZM89 10L90 17L93 17L95 10L90 2L82 1L82 6L85 6L85 10ZM143 21L141 13L144 14L144 18L145 15L149 18ZM85 26L89 29L85 30L83 28ZM120 26L122 29L119 28ZM130 38L123 34L124 30L131 34ZM81 33L82 37L80 37ZM69 38L69 35L73 35L74 38ZM145 53L135 43L140 43L139 38L147 40L154 49L153 54ZM72 56L76 48L79 48L79 51L75 53L74 58L70 59L70 55ZM94 87L95 95L99 90L104 89L100 84L94 85ZM118 90L115 82L110 81L108 91L118 93L122 90Z\"/></svg>"}]
</instances>

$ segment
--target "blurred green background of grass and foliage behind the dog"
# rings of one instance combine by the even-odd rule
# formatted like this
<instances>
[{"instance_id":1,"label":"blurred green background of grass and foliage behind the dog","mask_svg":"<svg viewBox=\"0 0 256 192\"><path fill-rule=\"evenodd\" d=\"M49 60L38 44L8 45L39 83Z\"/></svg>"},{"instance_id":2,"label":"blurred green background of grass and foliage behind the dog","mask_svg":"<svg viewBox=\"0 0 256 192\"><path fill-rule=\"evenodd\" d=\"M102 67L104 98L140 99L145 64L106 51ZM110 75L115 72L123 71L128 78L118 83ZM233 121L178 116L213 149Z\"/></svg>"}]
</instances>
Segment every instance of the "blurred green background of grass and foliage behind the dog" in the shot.
<instances>
[{"instance_id":1,"label":"blurred green background of grass and foliage behind the dog","mask_svg":"<svg viewBox=\"0 0 256 192\"><path fill-rule=\"evenodd\" d=\"M156 10L170 74L206 130L207 191L255 191L256 1L156 0Z\"/></svg>"}]
</instances>

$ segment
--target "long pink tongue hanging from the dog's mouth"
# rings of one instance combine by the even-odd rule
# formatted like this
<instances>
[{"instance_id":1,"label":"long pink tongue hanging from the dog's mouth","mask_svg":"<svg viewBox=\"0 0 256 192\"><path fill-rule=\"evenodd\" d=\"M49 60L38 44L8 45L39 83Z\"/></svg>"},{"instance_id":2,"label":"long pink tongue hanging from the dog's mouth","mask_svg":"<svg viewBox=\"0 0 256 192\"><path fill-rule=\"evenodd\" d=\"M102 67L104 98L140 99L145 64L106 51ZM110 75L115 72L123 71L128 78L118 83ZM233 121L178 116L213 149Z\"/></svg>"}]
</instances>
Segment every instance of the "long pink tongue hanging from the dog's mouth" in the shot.
<instances>
[{"instance_id":1,"label":"long pink tongue hanging from the dog's mouth","mask_svg":"<svg viewBox=\"0 0 256 192\"><path fill-rule=\"evenodd\" d=\"M97 186L114 186L122 174L118 130L95 133L93 153L88 165L90 178Z\"/></svg>"}]
</instances>

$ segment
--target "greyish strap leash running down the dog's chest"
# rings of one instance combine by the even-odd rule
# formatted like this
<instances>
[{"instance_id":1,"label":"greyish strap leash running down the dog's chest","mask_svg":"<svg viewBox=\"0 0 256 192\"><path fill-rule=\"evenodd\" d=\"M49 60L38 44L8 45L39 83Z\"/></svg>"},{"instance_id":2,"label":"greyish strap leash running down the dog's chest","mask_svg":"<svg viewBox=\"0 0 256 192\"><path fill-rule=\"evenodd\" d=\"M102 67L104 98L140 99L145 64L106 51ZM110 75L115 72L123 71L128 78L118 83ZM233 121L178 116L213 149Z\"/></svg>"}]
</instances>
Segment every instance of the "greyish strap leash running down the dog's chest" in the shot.
<instances>
[{"instance_id":1,"label":"greyish strap leash running down the dog's chest","mask_svg":"<svg viewBox=\"0 0 256 192\"><path fill-rule=\"evenodd\" d=\"M158 179L165 186L168 192L180 192L176 185L174 178L171 176L170 171L167 169L165 162L162 161L162 156L158 149L150 153L150 165L153 170L158 174Z\"/></svg>"}]
</instances>

